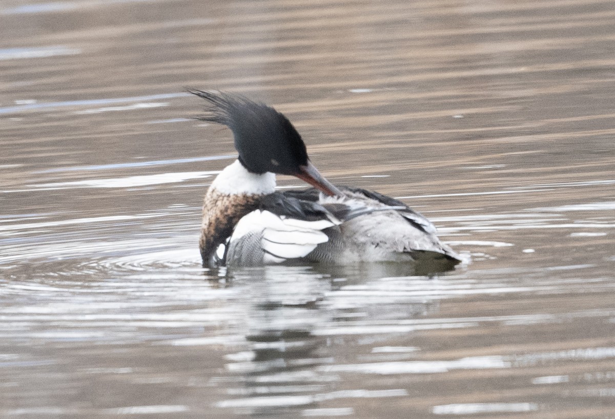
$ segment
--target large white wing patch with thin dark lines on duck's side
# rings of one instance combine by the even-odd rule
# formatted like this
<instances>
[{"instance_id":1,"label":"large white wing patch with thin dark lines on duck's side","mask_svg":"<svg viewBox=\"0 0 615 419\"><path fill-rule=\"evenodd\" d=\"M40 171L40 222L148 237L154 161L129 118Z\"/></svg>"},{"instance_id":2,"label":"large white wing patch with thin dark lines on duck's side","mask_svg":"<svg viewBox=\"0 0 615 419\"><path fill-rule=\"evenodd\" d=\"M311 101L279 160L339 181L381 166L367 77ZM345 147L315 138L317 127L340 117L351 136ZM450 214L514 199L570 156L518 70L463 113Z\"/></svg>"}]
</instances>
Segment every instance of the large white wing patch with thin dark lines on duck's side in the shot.
<instances>
[{"instance_id":1,"label":"large white wing patch with thin dark lines on duck's side","mask_svg":"<svg viewBox=\"0 0 615 419\"><path fill-rule=\"evenodd\" d=\"M264 251L263 262L280 263L286 259L307 256L320 243L328 241L328 236L321 230L336 224L339 221L305 221L256 210L239 220L232 233L231 243L248 233L259 233L261 250Z\"/></svg>"}]
</instances>

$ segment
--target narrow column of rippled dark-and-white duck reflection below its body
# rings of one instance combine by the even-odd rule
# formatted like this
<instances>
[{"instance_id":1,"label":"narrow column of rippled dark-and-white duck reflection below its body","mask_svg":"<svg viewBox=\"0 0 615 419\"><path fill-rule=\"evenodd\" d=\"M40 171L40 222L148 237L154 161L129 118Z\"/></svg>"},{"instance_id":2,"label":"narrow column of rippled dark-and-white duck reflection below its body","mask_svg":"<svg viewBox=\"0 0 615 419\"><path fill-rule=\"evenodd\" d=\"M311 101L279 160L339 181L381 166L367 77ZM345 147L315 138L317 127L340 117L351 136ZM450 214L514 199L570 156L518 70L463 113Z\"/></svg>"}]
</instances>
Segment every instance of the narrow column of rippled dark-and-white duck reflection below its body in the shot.
<instances>
[{"instance_id":1,"label":"narrow column of rippled dark-and-white duck reflection below its body","mask_svg":"<svg viewBox=\"0 0 615 419\"><path fill-rule=\"evenodd\" d=\"M331 289L329 278L309 267L245 268L232 273L247 284L250 305L245 339L248 350L229 354L226 368L239 380L235 396L219 407L269 414L314 404L315 394L339 377L317 367L331 363L327 339L314 333L331 321L320 303Z\"/></svg>"}]
</instances>

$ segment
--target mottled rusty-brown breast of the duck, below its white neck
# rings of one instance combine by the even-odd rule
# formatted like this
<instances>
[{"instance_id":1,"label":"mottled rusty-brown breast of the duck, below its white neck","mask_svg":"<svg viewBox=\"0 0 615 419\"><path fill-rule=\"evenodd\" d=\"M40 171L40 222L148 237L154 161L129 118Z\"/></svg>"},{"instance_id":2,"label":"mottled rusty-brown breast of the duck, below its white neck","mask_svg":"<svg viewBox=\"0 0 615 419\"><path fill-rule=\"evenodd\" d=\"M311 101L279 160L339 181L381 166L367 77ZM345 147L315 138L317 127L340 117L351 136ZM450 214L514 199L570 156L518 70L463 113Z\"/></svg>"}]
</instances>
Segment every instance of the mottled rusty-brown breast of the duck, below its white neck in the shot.
<instances>
[{"instance_id":1,"label":"mottled rusty-brown breast of the duck, below its white neck","mask_svg":"<svg viewBox=\"0 0 615 419\"><path fill-rule=\"evenodd\" d=\"M228 195L211 187L207 190L199 238L203 265L210 264L210 256L232 234L241 217L258 208L261 197L263 195Z\"/></svg>"}]
</instances>

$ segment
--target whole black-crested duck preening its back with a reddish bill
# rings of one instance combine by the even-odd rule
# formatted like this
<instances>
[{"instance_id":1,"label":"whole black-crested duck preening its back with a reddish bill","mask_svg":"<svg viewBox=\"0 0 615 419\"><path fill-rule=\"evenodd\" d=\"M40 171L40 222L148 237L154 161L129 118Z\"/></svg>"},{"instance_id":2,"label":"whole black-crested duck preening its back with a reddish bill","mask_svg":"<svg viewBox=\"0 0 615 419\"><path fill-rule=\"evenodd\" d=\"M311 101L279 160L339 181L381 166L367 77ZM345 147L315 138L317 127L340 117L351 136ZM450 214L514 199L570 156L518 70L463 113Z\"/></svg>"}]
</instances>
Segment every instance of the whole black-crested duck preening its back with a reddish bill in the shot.
<instances>
[{"instance_id":1,"label":"whole black-crested duck preening its back with a reddish bill","mask_svg":"<svg viewBox=\"0 0 615 419\"><path fill-rule=\"evenodd\" d=\"M404 203L325 179L281 112L237 93L187 91L207 102L196 119L228 127L239 153L205 193L204 267L428 261L443 271L461 262L434 224ZM276 174L311 187L276 190Z\"/></svg>"}]
</instances>

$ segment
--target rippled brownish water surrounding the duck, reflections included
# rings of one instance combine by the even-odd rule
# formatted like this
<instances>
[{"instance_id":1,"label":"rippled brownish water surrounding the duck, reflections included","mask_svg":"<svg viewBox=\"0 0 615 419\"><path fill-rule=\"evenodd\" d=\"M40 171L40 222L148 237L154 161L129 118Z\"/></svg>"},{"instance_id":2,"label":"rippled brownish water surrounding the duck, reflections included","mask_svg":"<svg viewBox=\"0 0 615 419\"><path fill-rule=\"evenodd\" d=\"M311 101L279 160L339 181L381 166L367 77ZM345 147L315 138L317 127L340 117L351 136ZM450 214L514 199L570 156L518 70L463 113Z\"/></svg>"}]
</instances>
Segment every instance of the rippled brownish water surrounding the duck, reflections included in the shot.
<instances>
[{"instance_id":1,"label":"rippled brownish water surrounding the duck, reflections included","mask_svg":"<svg viewBox=\"0 0 615 419\"><path fill-rule=\"evenodd\" d=\"M184 86L471 262L202 269ZM613 0L2 2L0 416L614 418L614 98Z\"/></svg>"}]
</instances>

